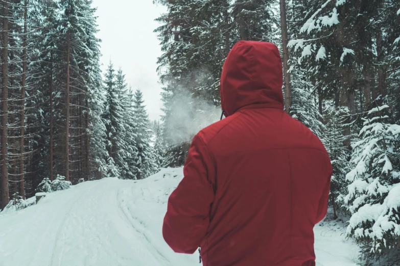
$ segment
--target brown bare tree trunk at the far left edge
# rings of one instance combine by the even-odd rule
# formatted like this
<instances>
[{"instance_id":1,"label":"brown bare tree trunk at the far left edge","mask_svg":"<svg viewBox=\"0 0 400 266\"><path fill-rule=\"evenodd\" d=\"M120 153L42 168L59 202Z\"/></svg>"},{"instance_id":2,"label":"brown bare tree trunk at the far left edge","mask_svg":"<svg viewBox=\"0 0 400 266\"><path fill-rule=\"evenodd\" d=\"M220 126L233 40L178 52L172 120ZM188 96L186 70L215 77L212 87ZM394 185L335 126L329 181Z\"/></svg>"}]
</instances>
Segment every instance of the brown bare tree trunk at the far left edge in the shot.
<instances>
[{"instance_id":1,"label":"brown bare tree trunk at the far left edge","mask_svg":"<svg viewBox=\"0 0 400 266\"><path fill-rule=\"evenodd\" d=\"M8 2L3 2L3 92L2 92L2 204L10 202L8 190Z\"/></svg>"}]
</instances>

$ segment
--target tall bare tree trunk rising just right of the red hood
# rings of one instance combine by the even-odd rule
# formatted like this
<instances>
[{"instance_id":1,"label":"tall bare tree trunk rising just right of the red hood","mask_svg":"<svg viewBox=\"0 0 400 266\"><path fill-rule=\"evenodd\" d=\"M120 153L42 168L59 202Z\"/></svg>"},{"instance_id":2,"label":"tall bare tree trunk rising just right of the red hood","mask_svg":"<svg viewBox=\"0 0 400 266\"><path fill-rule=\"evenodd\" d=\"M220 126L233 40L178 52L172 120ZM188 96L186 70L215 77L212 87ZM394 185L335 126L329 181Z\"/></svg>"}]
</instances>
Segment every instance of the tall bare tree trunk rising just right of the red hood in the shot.
<instances>
[{"instance_id":1,"label":"tall bare tree trunk rising just right of the red hood","mask_svg":"<svg viewBox=\"0 0 400 266\"><path fill-rule=\"evenodd\" d=\"M285 109L290 114L292 106L292 88L290 86L290 73L288 73L289 66L289 49L288 49L288 24L286 22L286 2L285 0L279 1L280 5L280 29L282 35L282 52L284 59L284 87L285 87Z\"/></svg>"}]
</instances>

